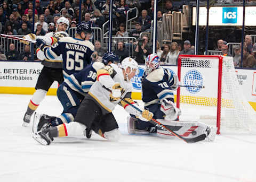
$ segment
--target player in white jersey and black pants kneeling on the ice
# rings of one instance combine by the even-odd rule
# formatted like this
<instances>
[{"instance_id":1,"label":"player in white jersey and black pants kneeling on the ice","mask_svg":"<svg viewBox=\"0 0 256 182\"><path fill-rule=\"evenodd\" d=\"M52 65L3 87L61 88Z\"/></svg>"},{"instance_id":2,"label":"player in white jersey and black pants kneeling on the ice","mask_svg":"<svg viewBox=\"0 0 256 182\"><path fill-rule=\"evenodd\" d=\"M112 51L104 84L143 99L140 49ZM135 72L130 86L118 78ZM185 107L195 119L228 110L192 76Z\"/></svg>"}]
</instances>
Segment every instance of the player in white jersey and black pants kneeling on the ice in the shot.
<instances>
[{"instance_id":1,"label":"player in white jersey and black pants kneeling on the ice","mask_svg":"<svg viewBox=\"0 0 256 182\"><path fill-rule=\"evenodd\" d=\"M74 122L42 129L33 135L43 145L49 145L54 137L84 136L86 128L109 141L118 141L120 133L112 111L120 103L124 109L142 120L150 120L153 114L146 109L142 113L121 100L124 98L131 105L139 107L131 99L132 77L138 72L138 63L128 57L122 61L121 67L110 64L97 72L97 81L91 86L77 110Z\"/></svg>"}]
</instances>

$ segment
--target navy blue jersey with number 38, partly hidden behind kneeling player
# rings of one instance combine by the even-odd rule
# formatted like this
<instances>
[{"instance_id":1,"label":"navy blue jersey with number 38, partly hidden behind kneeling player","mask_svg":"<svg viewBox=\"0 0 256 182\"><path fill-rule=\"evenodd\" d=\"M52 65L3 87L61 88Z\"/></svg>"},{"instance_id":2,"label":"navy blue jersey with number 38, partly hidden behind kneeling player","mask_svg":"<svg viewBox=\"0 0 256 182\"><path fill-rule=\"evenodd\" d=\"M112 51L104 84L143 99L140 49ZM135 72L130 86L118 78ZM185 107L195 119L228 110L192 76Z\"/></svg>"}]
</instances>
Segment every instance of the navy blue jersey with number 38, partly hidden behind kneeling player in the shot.
<instances>
[{"instance_id":1,"label":"navy blue jersey with number 38, partly hidden behind kneeling player","mask_svg":"<svg viewBox=\"0 0 256 182\"><path fill-rule=\"evenodd\" d=\"M105 65L100 62L87 65L81 72L74 73L67 77L63 82L63 85L84 96L96 81L97 71L104 66Z\"/></svg>"}]
</instances>

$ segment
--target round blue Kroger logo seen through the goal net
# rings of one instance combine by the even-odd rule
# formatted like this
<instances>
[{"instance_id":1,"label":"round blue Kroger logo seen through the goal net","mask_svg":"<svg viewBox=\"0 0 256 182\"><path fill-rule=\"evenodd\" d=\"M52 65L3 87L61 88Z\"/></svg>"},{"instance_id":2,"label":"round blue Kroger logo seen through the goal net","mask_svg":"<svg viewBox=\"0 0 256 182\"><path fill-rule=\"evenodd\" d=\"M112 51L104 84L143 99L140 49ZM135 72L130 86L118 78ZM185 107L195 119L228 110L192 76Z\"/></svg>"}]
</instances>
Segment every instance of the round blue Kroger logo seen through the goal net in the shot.
<instances>
[{"instance_id":1,"label":"round blue Kroger logo seen through the goal net","mask_svg":"<svg viewBox=\"0 0 256 182\"><path fill-rule=\"evenodd\" d=\"M203 86L203 76L197 70L189 70L183 80L184 85L190 86ZM201 90L198 87L186 87L186 90L190 93L197 93Z\"/></svg>"}]
</instances>

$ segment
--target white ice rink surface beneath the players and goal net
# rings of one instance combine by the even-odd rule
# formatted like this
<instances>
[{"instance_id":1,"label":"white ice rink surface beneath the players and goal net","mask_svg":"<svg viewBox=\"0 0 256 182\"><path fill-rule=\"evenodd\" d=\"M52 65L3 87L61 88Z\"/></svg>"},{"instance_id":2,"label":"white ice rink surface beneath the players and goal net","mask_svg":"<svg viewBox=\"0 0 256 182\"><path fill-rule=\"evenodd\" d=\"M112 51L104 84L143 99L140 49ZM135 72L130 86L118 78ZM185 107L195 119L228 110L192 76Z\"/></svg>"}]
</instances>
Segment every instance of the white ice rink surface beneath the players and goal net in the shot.
<instances>
[{"instance_id":1,"label":"white ice rink surface beneath the players and goal net","mask_svg":"<svg viewBox=\"0 0 256 182\"><path fill-rule=\"evenodd\" d=\"M109 142L93 133L54 139L49 146L22 127L30 95L0 94L0 181L256 181L256 136L218 135L215 142L187 144L177 138L128 135L127 113L114 115L122 133ZM62 106L47 96L38 112L57 116Z\"/></svg>"}]
</instances>

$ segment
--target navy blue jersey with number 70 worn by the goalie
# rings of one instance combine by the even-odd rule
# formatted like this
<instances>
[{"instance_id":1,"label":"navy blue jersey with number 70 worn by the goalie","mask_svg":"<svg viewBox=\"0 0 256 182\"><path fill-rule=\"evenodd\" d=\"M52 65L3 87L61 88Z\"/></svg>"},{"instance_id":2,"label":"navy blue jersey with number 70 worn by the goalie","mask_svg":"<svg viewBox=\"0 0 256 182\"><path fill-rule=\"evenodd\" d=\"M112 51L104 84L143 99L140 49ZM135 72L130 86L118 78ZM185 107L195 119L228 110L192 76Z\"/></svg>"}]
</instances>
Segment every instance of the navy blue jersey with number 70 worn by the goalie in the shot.
<instances>
[{"instance_id":1,"label":"navy blue jersey with number 70 worn by the goalie","mask_svg":"<svg viewBox=\"0 0 256 182\"><path fill-rule=\"evenodd\" d=\"M149 75L142 77L142 101L145 107L162 103L163 99L174 101L171 86L174 83L173 74L166 68L159 67Z\"/></svg>"}]
</instances>

